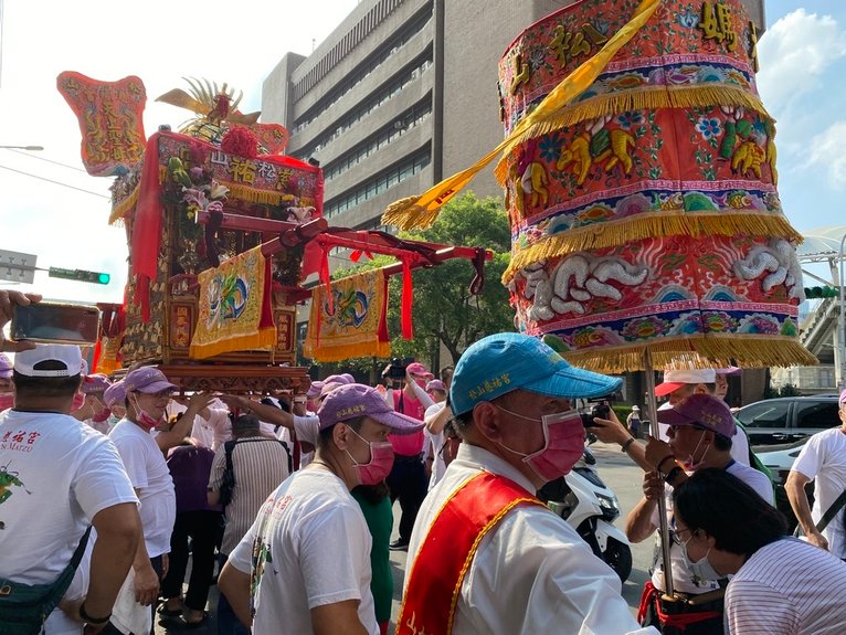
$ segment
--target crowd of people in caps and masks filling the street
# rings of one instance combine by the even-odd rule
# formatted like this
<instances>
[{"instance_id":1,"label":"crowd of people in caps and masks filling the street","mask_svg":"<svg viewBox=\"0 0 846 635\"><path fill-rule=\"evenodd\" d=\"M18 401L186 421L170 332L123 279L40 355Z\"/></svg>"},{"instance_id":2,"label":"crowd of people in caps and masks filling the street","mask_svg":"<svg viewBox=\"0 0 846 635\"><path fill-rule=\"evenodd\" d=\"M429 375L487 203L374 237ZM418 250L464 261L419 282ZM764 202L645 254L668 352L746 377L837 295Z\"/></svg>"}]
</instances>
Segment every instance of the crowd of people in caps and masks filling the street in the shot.
<instances>
[{"instance_id":1,"label":"crowd of people in caps and masks filling the street","mask_svg":"<svg viewBox=\"0 0 846 635\"><path fill-rule=\"evenodd\" d=\"M0 290L0 325L39 299ZM438 378L414 362L377 387L335 374L296 396L183 398L155 367L89 374L78 347L0 350L14 352L0 356L2 633L194 627L216 570L219 633L384 634L390 550L408 550L402 635L846 623L846 512L831 512L846 488L846 391L844 425L811 438L787 483L805 540L786 536L722 401L717 378L733 369L665 372L654 436L639 412L599 420L592 432L644 470L630 540L669 540L674 595L657 558L635 618L616 574L536 497L582 456L574 401L622 380L537 338L480 339Z\"/></svg>"}]
</instances>

